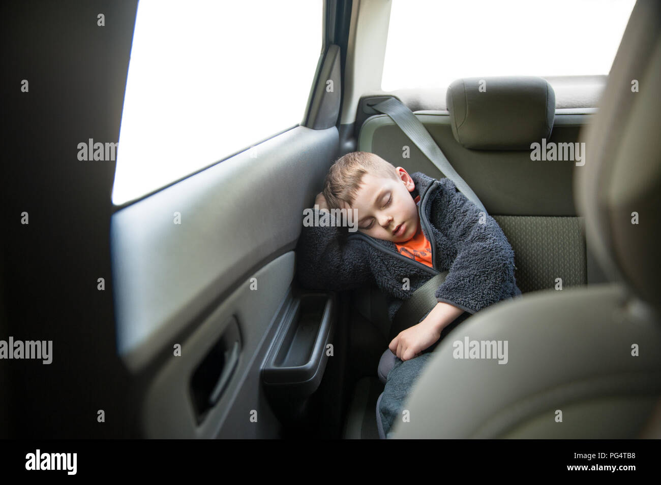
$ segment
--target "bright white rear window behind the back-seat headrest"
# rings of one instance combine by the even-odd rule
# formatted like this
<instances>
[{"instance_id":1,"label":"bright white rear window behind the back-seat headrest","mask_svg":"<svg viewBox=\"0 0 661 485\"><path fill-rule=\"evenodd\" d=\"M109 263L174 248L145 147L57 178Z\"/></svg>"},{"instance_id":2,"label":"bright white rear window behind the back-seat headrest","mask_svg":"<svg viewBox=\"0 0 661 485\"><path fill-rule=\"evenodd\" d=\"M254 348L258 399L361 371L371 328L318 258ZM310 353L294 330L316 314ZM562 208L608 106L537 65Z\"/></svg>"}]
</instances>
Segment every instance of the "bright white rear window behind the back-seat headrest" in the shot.
<instances>
[{"instance_id":1,"label":"bright white rear window behind the back-seat headrest","mask_svg":"<svg viewBox=\"0 0 661 485\"><path fill-rule=\"evenodd\" d=\"M381 89L608 74L635 0L393 0Z\"/></svg>"}]
</instances>

